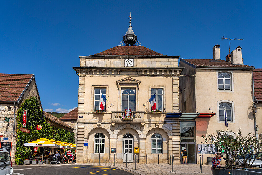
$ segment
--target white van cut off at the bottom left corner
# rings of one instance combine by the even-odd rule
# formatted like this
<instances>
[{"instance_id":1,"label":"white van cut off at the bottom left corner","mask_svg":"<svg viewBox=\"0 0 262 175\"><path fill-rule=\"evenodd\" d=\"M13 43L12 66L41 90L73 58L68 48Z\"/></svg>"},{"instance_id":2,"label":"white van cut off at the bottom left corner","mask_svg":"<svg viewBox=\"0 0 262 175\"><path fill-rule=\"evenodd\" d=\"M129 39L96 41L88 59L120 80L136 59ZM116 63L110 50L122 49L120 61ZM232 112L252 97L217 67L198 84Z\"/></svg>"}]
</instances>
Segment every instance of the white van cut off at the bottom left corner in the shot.
<instances>
[{"instance_id":1,"label":"white van cut off at the bottom left corner","mask_svg":"<svg viewBox=\"0 0 262 175\"><path fill-rule=\"evenodd\" d=\"M0 149L0 174L11 175L13 174L12 160L9 152L4 149Z\"/></svg>"}]
</instances>

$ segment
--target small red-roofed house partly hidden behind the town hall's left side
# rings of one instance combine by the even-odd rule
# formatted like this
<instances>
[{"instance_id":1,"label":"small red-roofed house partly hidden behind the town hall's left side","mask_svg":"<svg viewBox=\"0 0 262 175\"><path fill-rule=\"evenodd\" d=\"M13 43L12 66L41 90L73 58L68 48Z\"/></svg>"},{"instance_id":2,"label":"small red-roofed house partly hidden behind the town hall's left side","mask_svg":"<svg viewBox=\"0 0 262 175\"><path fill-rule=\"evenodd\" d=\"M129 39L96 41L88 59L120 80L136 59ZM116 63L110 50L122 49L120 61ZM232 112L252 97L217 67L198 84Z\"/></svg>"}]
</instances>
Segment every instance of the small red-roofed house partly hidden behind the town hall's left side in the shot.
<instances>
[{"instance_id":1,"label":"small red-roofed house partly hidden behind the town hall's left side","mask_svg":"<svg viewBox=\"0 0 262 175\"><path fill-rule=\"evenodd\" d=\"M71 126L75 130L73 131L75 134L75 143L77 143L77 119L78 119L78 107L68 112L64 116L59 118L67 125Z\"/></svg>"}]
</instances>

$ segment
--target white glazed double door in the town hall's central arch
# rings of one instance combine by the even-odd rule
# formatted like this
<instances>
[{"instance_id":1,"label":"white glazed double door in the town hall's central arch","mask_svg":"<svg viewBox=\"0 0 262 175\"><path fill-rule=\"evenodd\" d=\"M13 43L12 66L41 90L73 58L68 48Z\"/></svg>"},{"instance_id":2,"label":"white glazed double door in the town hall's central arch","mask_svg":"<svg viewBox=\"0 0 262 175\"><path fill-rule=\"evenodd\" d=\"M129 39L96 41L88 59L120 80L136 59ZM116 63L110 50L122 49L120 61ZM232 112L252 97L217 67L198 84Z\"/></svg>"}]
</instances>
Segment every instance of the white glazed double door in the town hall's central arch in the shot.
<instances>
[{"instance_id":1,"label":"white glazed double door in the town hall's central arch","mask_svg":"<svg viewBox=\"0 0 262 175\"><path fill-rule=\"evenodd\" d=\"M133 158L134 158L133 155L134 155L134 139L123 138L123 162L125 162L126 158L127 158L127 162L133 162Z\"/></svg>"}]
</instances>

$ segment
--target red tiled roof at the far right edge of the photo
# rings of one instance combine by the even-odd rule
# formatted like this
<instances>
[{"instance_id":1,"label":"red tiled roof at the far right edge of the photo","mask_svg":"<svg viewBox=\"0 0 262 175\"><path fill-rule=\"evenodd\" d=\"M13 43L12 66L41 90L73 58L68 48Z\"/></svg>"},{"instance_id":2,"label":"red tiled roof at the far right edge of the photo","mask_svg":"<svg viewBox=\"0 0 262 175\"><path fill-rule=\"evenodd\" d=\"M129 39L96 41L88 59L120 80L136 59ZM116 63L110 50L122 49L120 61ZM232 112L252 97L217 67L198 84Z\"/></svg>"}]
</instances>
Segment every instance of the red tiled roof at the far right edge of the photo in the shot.
<instances>
[{"instance_id":1,"label":"red tiled roof at the far right edge of the photo","mask_svg":"<svg viewBox=\"0 0 262 175\"><path fill-rule=\"evenodd\" d=\"M257 100L262 100L262 69L254 70L254 95Z\"/></svg>"}]
</instances>

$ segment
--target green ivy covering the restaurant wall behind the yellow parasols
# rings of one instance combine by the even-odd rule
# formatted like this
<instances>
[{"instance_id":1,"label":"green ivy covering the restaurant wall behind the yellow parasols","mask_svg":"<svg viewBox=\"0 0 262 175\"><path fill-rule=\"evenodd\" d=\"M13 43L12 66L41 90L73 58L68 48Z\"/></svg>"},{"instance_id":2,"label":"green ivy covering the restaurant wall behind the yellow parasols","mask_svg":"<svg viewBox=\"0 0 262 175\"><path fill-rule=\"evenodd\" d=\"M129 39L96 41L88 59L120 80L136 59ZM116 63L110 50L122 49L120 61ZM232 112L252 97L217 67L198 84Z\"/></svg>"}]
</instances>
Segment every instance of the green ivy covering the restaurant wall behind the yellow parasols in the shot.
<instances>
[{"instance_id":1,"label":"green ivy covering the restaurant wall behind the yellow parasols","mask_svg":"<svg viewBox=\"0 0 262 175\"><path fill-rule=\"evenodd\" d=\"M20 131L23 123L23 111L27 110L26 129L30 132ZM36 130L36 125L41 125L40 131ZM74 143L74 133L64 130L62 128L52 127L45 120L43 111L40 109L40 105L37 97L30 97L26 99L21 107L17 110L17 143L15 152L15 163L20 165L24 164L24 159L29 157L31 147L24 146L24 143L35 141L39 138L47 138L60 140L62 142Z\"/></svg>"}]
</instances>

